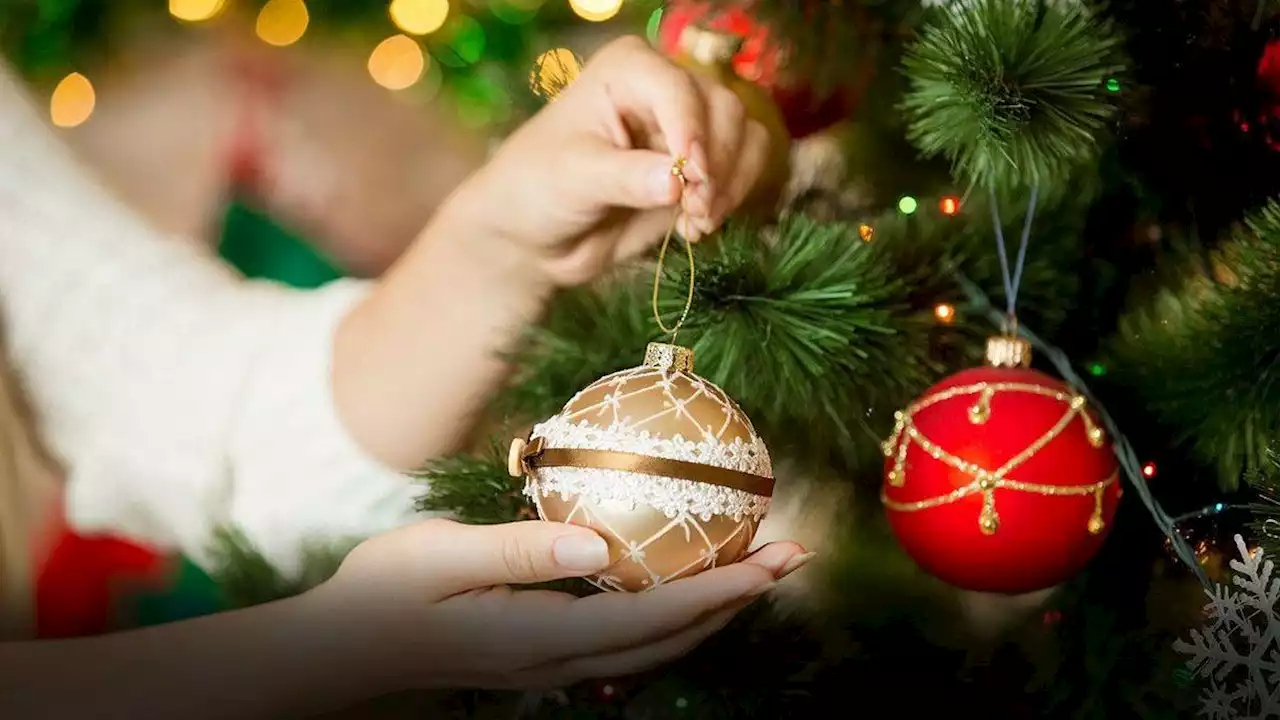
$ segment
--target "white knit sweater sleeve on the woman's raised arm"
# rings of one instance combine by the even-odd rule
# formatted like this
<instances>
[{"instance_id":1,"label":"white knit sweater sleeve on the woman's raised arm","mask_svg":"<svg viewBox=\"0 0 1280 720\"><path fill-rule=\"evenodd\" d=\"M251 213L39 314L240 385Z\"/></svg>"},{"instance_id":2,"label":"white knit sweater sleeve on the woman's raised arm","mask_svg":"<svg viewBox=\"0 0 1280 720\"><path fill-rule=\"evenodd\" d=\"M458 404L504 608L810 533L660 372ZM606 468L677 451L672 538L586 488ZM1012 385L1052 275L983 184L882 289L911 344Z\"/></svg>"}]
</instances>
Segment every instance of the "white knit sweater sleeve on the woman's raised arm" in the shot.
<instances>
[{"instance_id":1,"label":"white knit sweater sleeve on the woman's raised arm","mask_svg":"<svg viewBox=\"0 0 1280 720\"><path fill-rule=\"evenodd\" d=\"M78 529L207 562L237 525L292 570L307 543L410 520L420 488L361 454L332 397L333 331L364 291L250 283L159 236L0 68L0 313Z\"/></svg>"}]
</instances>

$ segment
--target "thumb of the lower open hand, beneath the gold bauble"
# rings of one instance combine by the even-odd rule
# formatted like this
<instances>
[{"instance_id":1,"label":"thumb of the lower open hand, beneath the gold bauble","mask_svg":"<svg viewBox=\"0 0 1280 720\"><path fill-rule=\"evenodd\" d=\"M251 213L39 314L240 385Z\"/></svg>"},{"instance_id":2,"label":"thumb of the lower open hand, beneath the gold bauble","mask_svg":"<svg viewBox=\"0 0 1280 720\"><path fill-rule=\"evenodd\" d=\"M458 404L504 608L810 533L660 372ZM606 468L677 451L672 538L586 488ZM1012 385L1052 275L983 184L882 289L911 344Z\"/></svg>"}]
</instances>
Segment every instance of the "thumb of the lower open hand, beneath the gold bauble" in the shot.
<instances>
[{"instance_id":1,"label":"thumb of the lower open hand, beneath the gold bauble","mask_svg":"<svg viewBox=\"0 0 1280 720\"><path fill-rule=\"evenodd\" d=\"M530 520L503 525L445 521L422 539L431 550L433 594L580 578L609 565L604 538L589 528Z\"/></svg>"}]
</instances>

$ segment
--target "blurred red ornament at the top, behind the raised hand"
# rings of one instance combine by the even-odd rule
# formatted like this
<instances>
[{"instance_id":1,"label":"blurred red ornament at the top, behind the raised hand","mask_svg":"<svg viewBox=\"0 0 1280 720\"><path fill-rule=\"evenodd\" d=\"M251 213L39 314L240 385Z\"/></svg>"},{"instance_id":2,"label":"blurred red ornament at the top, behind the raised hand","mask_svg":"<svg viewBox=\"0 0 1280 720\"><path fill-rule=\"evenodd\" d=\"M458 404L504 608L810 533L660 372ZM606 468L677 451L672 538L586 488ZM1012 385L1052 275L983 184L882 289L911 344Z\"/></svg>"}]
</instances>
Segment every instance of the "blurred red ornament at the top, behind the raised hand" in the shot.
<instances>
[{"instance_id":1,"label":"blurred red ornament at the top, behind the raised hand","mask_svg":"<svg viewBox=\"0 0 1280 720\"><path fill-rule=\"evenodd\" d=\"M690 26L742 38L733 56L733 72L769 92L782 110L787 132L794 140L808 137L850 117L861 95L858 86L836 88L819 95L803 78L785 72L788 49L771 37L769 28L741 6L722 8L714 3L685 0L672 3L658 27L658 45L668 56L681 54L685 29ZM868 64L868 68L870 65Z\"/></svg>"}]
</instances>

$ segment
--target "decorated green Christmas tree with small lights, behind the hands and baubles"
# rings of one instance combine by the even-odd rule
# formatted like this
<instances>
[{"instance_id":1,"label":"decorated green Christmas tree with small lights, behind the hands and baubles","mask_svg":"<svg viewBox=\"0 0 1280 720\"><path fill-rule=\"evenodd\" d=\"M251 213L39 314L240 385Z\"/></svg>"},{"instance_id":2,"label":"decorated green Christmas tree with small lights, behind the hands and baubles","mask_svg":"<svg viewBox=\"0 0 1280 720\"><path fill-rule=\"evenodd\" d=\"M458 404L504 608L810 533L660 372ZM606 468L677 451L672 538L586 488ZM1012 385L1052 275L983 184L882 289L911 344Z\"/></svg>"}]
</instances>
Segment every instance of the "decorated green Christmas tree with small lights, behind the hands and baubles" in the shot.
<instances>
[{"instance_id":1,"label":"decorated green Christmas tree with small lights, behind the hands and baubles","mask_svg":"<svg viewBox=\"0 0 1280 720\"><path fill-rule=\"evenodd\" d=\"M169 20L118 5L18 3L4 10L14 20L4 23L10 56L37 82L56 79L74 67L74 49L104 51L84 29L101 17ZM723 60L768 108L744 101L776 111L791 146L790 172L772 178L787 186L781 210L748 208L692 252L680 343L768 443L773 518L799 519L783 533L818 537L820 562L804 571L799 596L755 607L650 675L547 696L460 693L449 698L460 716L792 717L847 703L859 689L911 715L1194 712L1197 683L1174 642L1199 621L1202 583L1225 579L1235 534L1272 557L1280 548L1270 546L1280 537L1280 6L306 6L323 28L376 37L396 23L417 37L443 68L431 92L444 87L461 114L493 120L499 136L572 82L572 33L584 20L645 33L673 58L687 55L691 32L733 37ZM415 26L419 6L447 6L445 29ZM588 55L590 42L579 42ZM413 79L403 92L415 92ZM687 282L690 259L672 249L658 268L667 325L685 309L673 288ZM654 269L628 268L554 300L511 359L492 437L424 469L424 510L475 523L531 516L507 442L666 338L653 318ZM1014 337L1029 342L1034 368L1062 384L979 383L1038 388L1021 411L995 389L955 407L924 402L946 391L929 389L940 380L982 365L992 336L1005 337L1004 352L1025 350ZM1005 360L1006 370L1029 372ZM1030 437L1048 438L1037 452L1064 468L1057 475L1030 456L1021 466L1043 475L1036 482L966 455L991 433L1052 415L1051 401L1066 413L1065 429L1036 425ZM905 465L895 465L899 452ZM895 488L932 482L922 478L928 455L968 464L973 492L896 509ZM1071 465L1085 455L1093 465ZM1074 471L1082 475L1066 477ZM1010 559L1007 546L983 555L982 538L1016 537L1034 509L1070 557L1030 565L1053 565L1053 582L1010 597L1019 578L1007 568L1036 559ZM964 552L938 557L936 537ZM242 605L301 592L333 565L317 559L308 578L279 578L234 536L224 557L223 580ZM980 578L969 571L978 566ZM1006 594L974 592L997 585Z\"/></svg>"}]
</instances>

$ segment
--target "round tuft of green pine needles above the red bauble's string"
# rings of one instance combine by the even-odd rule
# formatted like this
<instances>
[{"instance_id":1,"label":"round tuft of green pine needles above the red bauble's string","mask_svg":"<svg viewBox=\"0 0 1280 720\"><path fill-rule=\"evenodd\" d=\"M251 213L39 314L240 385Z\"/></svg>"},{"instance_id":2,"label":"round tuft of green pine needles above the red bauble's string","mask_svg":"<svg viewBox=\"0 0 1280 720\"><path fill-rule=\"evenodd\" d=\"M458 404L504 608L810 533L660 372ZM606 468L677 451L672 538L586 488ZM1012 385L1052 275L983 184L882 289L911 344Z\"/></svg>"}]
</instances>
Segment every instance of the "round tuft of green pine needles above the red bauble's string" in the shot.
<instances>
[{"instance_id":1,"label":"round tuft of green pine needles above the red bauble's string","mask_svg":"<svg viewBox=\"0 0 1280 720\"><path fill-rule=\"evenodd\" d=\"M1098 156L1119 45L1083 3L951 3L906 50L909 138L965 183L1062 187Z\"/></svg>"}]
</instances>

